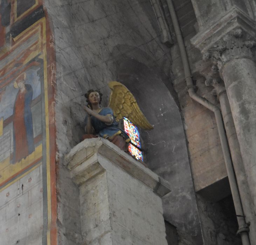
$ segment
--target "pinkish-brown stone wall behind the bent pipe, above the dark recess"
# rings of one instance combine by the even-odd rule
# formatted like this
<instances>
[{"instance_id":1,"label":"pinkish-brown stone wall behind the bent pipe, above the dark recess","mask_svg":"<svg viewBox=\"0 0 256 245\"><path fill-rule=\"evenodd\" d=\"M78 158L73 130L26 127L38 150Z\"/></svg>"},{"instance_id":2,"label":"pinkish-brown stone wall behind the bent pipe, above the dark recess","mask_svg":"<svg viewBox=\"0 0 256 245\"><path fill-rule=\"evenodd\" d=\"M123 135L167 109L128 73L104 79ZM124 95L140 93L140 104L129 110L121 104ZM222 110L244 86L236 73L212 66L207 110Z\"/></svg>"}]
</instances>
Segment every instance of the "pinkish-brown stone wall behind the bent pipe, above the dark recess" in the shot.
<instances>
[{"instance_id":1,"label":"pinkish-brown stone wall behind the bent pipe, above the dark recess","mask_svg":"<svg viewBox=\"0 0 256 245\"><path fill-rule=\"evenodd\" d=\"M203 69L201 68L203 65L201 52L196 49L190 41L198 31L198 23L195 18L191 0L182 2L173 1L173 3L184 37L197 93L210 102L218 104L216 97L211 94L212 89L206 87L204 84L206 78L199 73L200 70ZM165 12L166 18L174 33L168 10L166 9ZM171 47L171 57L173 60L171 70L173 86L178 94L182 115L184 117L194 186L195 190L199 191L225 179L227 177L226 167L214 113L188 96L183 65L175 36L174 45Z\"/></svg>"}]
</instances>

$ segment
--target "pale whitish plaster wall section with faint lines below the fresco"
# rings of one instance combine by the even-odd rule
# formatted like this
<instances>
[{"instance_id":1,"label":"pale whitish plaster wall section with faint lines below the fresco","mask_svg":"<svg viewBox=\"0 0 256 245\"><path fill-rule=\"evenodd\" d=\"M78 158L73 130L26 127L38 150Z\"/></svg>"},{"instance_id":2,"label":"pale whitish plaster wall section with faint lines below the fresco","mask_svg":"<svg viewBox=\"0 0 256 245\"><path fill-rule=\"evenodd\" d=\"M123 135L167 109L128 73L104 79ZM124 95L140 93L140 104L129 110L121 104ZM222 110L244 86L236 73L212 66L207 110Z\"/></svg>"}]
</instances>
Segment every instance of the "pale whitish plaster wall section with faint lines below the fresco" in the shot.
<instances>
[{"instance_id":1,"label":"pale whitish plaster wall section with faint lines below the fresco","mask_svg":"<svg viewBox=\"0 0 256 245\"><path fill-rule=\"evenodd\" d=\"M0 192L0 244L42 245L42 165Z\"/></svg>"}]
</instances>

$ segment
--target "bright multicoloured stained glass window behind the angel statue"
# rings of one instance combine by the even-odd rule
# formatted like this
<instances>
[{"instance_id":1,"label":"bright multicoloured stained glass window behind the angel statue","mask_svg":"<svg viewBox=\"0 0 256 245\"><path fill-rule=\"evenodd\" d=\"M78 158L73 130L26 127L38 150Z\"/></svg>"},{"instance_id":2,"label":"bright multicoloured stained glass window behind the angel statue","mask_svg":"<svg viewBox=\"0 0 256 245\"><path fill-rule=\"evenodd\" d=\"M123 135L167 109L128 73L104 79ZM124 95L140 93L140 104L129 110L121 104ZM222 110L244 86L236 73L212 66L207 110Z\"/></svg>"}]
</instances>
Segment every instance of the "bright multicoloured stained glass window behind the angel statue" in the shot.
<instances>
[{"instance_id":1,"label":"bright multicoloured stained glass window behind the angel statue","mask_svg":"<svg viewBox=\"0 0 256 245\"><path fill-rule=\"evenodd\" d=\"M140 150L140 139L137 127L132 122L124 117L124 131L129 135L132 144L128 146L129 152L135 156L136 159L143 161L142 152Z\"/></svg>"}]
</instances>

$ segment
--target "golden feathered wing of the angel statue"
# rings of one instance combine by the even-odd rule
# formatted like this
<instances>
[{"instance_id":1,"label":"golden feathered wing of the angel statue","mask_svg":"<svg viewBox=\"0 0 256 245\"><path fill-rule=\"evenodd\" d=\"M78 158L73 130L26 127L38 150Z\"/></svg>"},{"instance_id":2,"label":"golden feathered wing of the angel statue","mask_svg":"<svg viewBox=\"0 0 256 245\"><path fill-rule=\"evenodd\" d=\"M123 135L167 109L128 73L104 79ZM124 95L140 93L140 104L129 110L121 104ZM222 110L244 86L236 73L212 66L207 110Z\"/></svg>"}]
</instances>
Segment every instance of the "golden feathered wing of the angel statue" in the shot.
<instances>
[{"instance_id":1,"label":"golden feathered wing of the angel statue","mask_svg":"<svg viewBox=\"0 0 256 245\"><path fill-rule=\"evenodd\" d=\"M119 82L110 82L109 87L112 90L109 98L109 107L113 110L117 121L127 117L133 124L144 130L153 129L153 126L141 112L136 99L127 87Z\"/></svg>"}]
</instances>

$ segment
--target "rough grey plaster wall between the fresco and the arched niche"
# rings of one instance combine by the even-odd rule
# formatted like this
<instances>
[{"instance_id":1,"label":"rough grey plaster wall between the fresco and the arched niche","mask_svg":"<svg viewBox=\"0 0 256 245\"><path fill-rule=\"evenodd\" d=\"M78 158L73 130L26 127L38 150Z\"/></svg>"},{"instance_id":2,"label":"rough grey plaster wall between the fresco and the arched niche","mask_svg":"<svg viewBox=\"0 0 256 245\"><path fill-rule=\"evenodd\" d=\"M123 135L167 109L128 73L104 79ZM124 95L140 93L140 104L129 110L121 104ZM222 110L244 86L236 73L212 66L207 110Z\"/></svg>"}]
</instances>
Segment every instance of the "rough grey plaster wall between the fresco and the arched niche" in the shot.
<instances>
[{"instance_id":1,"label":"rough grey plaster wall between the fresco and the arched niche","mask_svg":"<svg viewBox=\"0 0 256 245\"><path fill-rule=\"evenodd\" d=\"M169 49L160 42L149 1L45 1L45 6L52 19L56 48L59 242L73 244L81 231L71 230L67 236L68 217L62 220L61 215L69 210L77 215L77 207L74 212L70 205L76 199L71 194L77 189L61 163L84 133L83 94L92 87L101 89L106 106L110 92L106 84L117 79L119 57L129 54L149 68L161 66L167 77L170 57Z\"/></svg>"}]
</instances>

